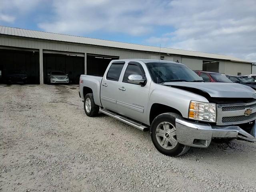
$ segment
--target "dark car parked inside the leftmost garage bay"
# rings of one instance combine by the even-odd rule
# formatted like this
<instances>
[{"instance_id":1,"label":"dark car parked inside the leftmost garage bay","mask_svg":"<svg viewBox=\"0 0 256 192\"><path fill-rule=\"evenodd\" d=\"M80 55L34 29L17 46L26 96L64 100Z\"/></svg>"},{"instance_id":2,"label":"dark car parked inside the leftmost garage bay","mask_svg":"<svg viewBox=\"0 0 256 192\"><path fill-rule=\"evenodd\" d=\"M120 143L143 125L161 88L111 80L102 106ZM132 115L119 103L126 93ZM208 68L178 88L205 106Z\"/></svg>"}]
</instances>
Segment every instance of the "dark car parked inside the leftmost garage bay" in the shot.
<instances>
[{"instance_id":1,"label":"dark car parked inside the leftmost garage bay","mask_svg":"<svg viewBox=\"0 0 256 192\"><path fill-rule=\"evenodd\" d=\"M22 83L26 84L28 82L28 75L22 70L9 70L6 73L5 81L7 84L11 83Z\"/></svg>"}]
</instances>

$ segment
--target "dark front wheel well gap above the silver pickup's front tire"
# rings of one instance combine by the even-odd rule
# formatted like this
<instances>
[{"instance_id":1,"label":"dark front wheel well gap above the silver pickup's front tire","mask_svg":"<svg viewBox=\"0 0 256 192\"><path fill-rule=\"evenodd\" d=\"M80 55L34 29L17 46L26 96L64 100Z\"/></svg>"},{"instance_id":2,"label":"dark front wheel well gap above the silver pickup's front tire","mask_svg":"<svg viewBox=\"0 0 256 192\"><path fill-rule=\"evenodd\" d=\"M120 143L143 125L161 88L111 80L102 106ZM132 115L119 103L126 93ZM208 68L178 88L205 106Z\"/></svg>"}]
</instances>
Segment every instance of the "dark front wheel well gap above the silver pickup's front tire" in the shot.
<instances>
[{"instance_id":1,"label":"dark front wheel well gap above the silver pickup's front tire","mask_svg":"<svg viewBox=\"0 0 256 192\"><path fill-rule=\"evenodd\" d=\"M173 112L173 113L176 113L176 114L179 114L182 116L182 114L178 110L176 110L170 106L159 104L159 103L154 103L150 109L150 115L149 115L150 125L152 124L152 122L153 122L154 118L156 118L156 116L158 116L162 113L167 113L167 112Z\"/></svg>"}]
</instances>

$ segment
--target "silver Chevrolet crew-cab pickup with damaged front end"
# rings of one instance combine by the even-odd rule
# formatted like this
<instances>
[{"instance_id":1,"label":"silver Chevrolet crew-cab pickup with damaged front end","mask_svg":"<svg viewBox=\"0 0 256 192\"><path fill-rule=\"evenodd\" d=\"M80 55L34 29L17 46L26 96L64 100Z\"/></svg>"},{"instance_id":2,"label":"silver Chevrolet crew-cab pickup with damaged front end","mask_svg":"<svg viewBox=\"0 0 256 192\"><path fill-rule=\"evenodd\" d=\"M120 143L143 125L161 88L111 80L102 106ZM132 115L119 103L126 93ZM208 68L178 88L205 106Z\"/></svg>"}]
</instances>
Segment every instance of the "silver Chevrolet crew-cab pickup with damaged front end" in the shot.
<instances>
[{"instance_id":1,"label":"silver Chevrolet crew-cab pickup with damaged front end","mask_svg":"<svg viewBox=\"0 0 256 192\"><path fill-rule=\"evenodd\" d=\"M212 139L256 142L256 92L236 83L206 83L184 64L112 60L103 77L81 75L87 116L102 112L142 131L156 149L180 156Z\"/></svg>"}]
</instances>

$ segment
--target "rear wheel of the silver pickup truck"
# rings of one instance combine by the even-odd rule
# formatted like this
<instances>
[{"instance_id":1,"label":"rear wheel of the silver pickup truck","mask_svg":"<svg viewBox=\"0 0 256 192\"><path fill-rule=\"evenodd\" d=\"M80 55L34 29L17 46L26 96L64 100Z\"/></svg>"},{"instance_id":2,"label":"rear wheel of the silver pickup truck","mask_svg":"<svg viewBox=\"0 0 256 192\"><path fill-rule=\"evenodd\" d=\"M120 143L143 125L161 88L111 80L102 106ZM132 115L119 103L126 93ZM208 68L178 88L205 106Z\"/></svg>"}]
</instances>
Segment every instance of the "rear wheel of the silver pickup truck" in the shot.
<instances>
[{"instance_id":1,"label":"rear wheel of the silver pickup truck","mask_svg":"<svg viewBox=\"0 0 256 192\"><path fill-rule=\"evenodd\" d=\"M100 106L94 103L93 94L88 93L84 98L84 112L89 117L94 117L99 113Z\"/></svg>"}]
</instances>

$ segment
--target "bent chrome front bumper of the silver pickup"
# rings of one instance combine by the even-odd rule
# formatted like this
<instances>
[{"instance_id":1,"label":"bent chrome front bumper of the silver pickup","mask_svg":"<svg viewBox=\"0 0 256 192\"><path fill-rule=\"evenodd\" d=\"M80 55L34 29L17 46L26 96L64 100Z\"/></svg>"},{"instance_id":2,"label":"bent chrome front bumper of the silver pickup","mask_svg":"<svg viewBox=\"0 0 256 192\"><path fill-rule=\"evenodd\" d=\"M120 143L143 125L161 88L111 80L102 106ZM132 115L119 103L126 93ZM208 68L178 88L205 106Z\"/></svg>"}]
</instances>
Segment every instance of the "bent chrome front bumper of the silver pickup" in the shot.
<instances>
[{"instance_id":1,"label":"bent chrome front bumper of the silver pickup","mask_svg":"<svg viewBox=\"0 0 256 192\"><path fill-rule=\"evenodd\" d=\"M256 121L249 133L239 126L211 126L210 124L176 119L176 134L179 143L206 148L212 138L236 138L256 142Z\"/></svg>"}]
</instances>

